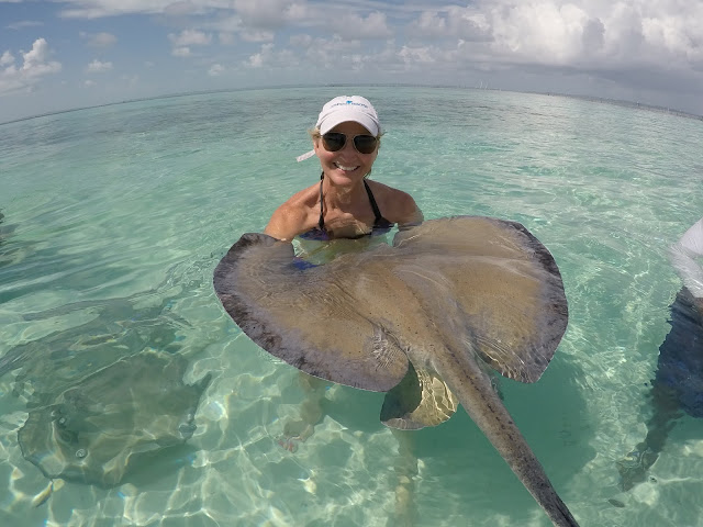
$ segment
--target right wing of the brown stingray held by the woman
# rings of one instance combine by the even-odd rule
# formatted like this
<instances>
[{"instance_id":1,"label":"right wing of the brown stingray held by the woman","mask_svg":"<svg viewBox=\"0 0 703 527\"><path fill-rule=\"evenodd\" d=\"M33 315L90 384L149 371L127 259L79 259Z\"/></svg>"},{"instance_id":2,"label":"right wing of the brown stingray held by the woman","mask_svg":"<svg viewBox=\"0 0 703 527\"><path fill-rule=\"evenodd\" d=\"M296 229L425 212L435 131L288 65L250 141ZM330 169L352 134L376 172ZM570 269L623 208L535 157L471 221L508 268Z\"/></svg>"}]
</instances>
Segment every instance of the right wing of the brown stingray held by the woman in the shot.
<instances>
[{"instance_id":1,"label":"right wing of the brown stingray held by the woman","mask_svg":"<svg viewBox=\"0 0 703 527\"><path fill-rule=\"evenodd\" d=\"M464 314L465 338L487 363L511 379L539 379L566 330L568 307L554 258L525 227L457 216L400 232L393 245L405 267L442 277Z\"/></svg>"}]
</instances>

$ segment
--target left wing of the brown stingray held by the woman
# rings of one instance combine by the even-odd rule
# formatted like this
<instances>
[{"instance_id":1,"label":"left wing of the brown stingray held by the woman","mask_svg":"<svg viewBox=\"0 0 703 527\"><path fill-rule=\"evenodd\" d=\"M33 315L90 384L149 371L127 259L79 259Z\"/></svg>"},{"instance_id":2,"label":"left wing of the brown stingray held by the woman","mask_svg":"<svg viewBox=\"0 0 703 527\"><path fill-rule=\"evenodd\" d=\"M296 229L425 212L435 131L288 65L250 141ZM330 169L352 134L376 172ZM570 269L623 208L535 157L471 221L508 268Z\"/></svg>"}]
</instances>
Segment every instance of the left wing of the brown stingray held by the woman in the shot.
<instances>
[{"instance_id":1,"label":"left wing of the brown stingray held by the woman","mask_svg":"<svg viewBox=\"0 0 703 527\"><path fill-rule=\"evenodd\" d=\"M295 267L293 247L265 234L245 234L214 272L220 301L242 330L269 354L322 379L388 391L408 371L408 358L379 324L365 316L341 282L346 264Z\"/></svg>"}]
</instances>

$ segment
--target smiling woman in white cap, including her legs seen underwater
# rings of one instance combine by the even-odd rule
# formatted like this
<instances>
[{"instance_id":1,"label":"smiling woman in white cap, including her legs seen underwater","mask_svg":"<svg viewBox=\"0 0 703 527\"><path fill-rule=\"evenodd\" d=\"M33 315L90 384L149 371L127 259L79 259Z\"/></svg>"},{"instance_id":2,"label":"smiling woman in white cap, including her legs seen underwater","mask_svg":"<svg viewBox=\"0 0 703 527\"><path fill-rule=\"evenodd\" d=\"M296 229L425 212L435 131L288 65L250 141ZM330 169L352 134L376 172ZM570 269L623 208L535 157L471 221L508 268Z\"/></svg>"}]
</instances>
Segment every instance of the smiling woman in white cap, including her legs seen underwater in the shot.
<instances>
[{"instance_id":1,"label":"smiling woman in white cap, including her legs seen underwater","mask_svg":"<svg viewBox=\"0 0 703 527\"><path fill-rule=\"evenodd\" d=\"M399 227L422 223L423 214L413 198L398 189L368 181L382 135L381 124L371 103L359 96L336 97L320 112L310 132L313 150L298 160L313 155L320 159L320 182L293 194L271 216L266 229L269 236L292 242L328 242L365 238L386 234L393 224ZM333 248L333 254L360 250L355 247ZM310 251L306 256L311 256ZM331 255L325 253L323 260ZM302 373L300 382L305 392L300 418L288 422L279 445L295 451L297 442L308 439L323 417L326 381ZM394 525L412 525L413 478L417 460L406 433L392 429L399 440L400 457L395 466L397 516Z\"/></svg>"}]
</instances>

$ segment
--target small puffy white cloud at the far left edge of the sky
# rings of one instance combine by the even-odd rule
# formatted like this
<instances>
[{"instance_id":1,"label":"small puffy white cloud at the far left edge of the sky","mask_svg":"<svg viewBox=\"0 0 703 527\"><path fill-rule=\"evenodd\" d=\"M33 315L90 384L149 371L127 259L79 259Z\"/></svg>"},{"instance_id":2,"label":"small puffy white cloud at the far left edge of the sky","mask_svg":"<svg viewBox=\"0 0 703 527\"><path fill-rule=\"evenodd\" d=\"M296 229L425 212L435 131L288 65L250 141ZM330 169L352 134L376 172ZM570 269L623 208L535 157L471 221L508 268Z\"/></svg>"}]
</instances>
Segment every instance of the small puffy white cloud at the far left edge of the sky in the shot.
<instances>
[{"instance_id":1,"label":"small puffy white cloud at the far left edge of the sky","mask_svg":"<svg viewBox=\"0 0 703 527\"><path fill-rule=\"evenodd\" d=\"M20 52L22 65L15 66L15 59L9 51L0 58L0 94L21 90L31 90L43 77L62 70L60 63L49 60L51 51L44 38L37 38L29 52Z\"/></svg>"}]
</instances>

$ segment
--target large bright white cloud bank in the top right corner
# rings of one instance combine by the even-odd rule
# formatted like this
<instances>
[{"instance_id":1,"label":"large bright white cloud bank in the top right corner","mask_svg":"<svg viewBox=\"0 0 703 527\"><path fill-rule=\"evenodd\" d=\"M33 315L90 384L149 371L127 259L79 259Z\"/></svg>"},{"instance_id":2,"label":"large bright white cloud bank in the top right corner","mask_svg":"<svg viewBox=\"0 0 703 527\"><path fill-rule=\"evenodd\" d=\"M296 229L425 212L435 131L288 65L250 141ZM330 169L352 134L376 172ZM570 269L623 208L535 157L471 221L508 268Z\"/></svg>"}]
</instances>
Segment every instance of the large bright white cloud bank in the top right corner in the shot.
<instances>
[{"instance_id":1,"label":"large bright white cloud bank in the top right corner","mask_svg":"<svg viewBox=\"0 0 703 527\"><path fill-rule=\"evenodd\" d=\"M703 52L703 2L587 0L479 5L499 58L603 67L687 63ZM696 36L698 35L698 36Z\"/></svg>"}]
</instances>

